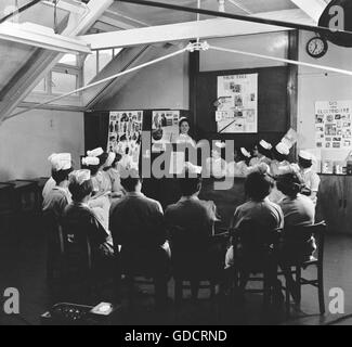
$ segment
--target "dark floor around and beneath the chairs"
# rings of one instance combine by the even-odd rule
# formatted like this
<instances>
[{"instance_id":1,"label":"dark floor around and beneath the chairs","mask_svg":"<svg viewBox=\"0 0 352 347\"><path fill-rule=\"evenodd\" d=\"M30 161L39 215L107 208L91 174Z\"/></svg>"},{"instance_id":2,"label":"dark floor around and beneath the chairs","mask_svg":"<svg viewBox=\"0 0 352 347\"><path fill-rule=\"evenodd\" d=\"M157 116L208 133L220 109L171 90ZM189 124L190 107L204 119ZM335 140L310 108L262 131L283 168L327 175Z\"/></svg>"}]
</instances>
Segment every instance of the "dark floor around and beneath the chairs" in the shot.
<instances>
[{"instance_id":1,"label":"dark floor around and beneath the chairs","mask_svg":"<svg viewBox=\"0 0 352 347\"><path fill-rule=\"evenodd\" d=\"M39 324L40 316L55 303L45 282L45 242L38 221L23 217L13 224L11 233L0 232L0 294L4 288L16 287L21 294L21 314L5 316L0 306L0 324ZM138 305L132 312L122 301L119 324L146 325L247 325L247 324L308 324L324 325L344 317L329 313L329 291L340 287L344 291L346 316L352 313L352 237L329 235L325 253L325 296L327 313L318 314L316 290L307 287L302 294L299 311L292 310L287 319L284 308L264 312L261 296L248 294L245 300L235 303L231 296L218 295L214 301L201 291L198 303L192 303L186 293L185 300L175 313L172 297L173 283L169 284L170 306L164 313L157 313L153 305L153 286L140 286ZM309 271L307 275L309 275ZM114 300L114 293L107 291L102 300ZM0 300L1 301L1 300ZM97 304L97 303L87 303ZM338 324L352 324L352 320L337 321Z\"/></svg>"}]
</instances>

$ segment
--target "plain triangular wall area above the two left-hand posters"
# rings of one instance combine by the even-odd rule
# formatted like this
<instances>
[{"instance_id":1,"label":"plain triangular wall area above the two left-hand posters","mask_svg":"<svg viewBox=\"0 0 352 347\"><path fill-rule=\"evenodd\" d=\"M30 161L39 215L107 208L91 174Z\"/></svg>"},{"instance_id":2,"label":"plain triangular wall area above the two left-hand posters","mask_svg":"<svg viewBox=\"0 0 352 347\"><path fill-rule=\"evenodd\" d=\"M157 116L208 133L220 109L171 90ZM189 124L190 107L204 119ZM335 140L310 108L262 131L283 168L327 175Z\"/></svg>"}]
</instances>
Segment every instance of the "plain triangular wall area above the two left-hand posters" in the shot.
<instances>
[{"instance_id":1,"label":"plain triangular wall area above the two left-hand posters","mask_svg":"<svg viewBox=\"0 0 352 347\"><path fill-rule=\"evenodd\" d=\"M165 56L181 47L152 47L145 61ZM131 75L128 82L117 85L109 98L102 99L94 110L188 110L188 54L182 53Z\"/></svg>"}]
</instances>

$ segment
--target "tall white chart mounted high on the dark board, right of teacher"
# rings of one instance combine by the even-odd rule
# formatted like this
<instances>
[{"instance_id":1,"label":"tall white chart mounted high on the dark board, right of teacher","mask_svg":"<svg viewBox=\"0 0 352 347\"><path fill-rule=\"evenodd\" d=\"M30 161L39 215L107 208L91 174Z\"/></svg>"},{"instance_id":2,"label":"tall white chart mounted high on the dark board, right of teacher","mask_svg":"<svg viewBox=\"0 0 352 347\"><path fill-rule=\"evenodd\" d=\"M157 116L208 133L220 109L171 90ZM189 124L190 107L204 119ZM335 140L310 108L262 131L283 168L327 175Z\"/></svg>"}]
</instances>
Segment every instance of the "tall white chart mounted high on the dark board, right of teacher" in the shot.
<instances>
[{"instance_id":1,"label":"tall white chart mounted high on the dark board, right of teacher","mask_svg":"<svg viewBox=\"0 0 352 347\"><path fill-rule=\"evenodd\" d=\"M218 77L220 133L258 132L258 74Z\"/></svg>"}]
</instances>

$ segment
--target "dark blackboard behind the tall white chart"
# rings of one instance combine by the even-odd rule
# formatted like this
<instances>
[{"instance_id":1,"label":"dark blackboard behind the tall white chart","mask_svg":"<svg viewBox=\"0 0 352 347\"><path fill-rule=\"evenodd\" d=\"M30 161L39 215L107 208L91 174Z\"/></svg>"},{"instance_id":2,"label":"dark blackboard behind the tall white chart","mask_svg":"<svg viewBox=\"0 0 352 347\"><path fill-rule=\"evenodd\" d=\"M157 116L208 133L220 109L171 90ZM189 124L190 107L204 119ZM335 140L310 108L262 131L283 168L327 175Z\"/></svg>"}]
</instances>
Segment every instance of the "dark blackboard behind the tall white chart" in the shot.
<instances>
[{"instance_id":1,"label":"dark blackboard behind the tall white chart","mask_svg":"<svg viewBox=\"0 0 352 347\"><path fill-rule=\"evenodd\" d=\"M218 76L240 74L258 74L258 133L219 134L213 105L218 99ZM289 125L288 74L287 66L198 73L195 91L197 138L234 140L236 145L247 146L260 139L279 141Z\"/></svg>"}]
</instances>

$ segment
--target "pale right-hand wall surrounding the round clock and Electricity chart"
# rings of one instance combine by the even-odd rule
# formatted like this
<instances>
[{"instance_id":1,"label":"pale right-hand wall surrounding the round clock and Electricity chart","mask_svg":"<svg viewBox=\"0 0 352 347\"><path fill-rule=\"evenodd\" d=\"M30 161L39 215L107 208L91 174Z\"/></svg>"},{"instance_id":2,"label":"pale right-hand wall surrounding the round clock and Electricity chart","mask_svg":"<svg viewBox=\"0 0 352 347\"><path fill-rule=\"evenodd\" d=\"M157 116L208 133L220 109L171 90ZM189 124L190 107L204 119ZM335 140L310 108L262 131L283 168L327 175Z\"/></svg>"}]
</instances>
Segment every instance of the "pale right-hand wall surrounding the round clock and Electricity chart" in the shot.
<instances>
[{"instance_id":1,"label":"pale right-hand wall surrounding the round clock and Electricity chart","mask_svg":"<svg viewBox=\"0 0 352 347\"><path fill-rule=\"evenodd\" d=\"M318 60L305 50L313 33L300 31L299 60L307 63L351 69L352 49L328 42L327 54ZM315 147L315 102L352 100L352 77L300 66L298 77L298 132L300 149ZM352 149L351 149L352 150ZM324 150L323 157L344 159L349 150Z\"/></svg>"}]
</instances>

